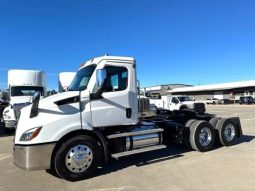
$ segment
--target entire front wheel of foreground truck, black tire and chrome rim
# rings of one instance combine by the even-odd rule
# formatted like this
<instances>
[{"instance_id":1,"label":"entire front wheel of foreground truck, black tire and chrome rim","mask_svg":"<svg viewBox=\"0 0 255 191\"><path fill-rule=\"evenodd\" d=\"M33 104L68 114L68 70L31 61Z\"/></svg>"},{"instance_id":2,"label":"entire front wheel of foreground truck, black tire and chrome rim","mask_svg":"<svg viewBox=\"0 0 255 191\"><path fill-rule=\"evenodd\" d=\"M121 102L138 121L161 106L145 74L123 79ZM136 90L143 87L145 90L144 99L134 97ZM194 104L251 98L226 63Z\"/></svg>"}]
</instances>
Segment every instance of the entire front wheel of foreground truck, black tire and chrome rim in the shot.
<instances>
[{"instance_id":1,"label":"entire front wheel of foreground truck, black tire and chrome rim","mask_svg":"<svg viewBox=\"0 0 255 191\"><path fill-rule=\"evenodd\" d=\"M77 181L91 176L99 162L97 142L89 136L80 135L61 145L55 155L54 167L61 178Z\"/></svg>"}]
</instances>

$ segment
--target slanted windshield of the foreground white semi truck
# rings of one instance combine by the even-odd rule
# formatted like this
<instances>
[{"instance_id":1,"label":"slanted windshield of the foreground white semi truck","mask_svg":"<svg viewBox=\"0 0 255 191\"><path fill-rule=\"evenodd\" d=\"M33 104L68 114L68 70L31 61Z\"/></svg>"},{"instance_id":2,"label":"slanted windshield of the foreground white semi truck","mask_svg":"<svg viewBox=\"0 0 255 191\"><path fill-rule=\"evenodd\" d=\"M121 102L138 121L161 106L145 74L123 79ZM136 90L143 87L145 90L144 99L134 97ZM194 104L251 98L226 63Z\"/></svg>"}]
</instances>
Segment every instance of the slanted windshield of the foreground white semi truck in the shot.
<instances>
[{"instance_id":1,"label":"slanted windshield of the foreground white semi truck","mask_svg":"<svg viewBox=\"0 0 255 191\"><path fill-rule=\"evenodd\" d=\"M89 83L89 80L90 80L95 68L96 68L96 65L90 65L90 66L80 69L76 73L70 87L68 88L68 91L85 90L87 88L87 85Z\"/></svg>"}]
</instances>

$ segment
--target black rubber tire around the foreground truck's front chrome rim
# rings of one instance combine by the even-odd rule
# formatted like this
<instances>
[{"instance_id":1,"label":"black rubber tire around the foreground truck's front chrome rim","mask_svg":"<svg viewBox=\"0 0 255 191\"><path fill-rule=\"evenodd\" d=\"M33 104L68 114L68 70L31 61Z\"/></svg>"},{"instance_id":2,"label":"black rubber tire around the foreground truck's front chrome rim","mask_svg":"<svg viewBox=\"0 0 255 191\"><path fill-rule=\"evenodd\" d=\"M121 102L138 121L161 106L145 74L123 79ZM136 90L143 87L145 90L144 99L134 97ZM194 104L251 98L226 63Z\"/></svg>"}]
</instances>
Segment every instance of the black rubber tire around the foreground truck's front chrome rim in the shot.
<instances>
[{"instance_id":1,"label":"black rubber tire around the foreground truck's front chrome rim","mask_svg":"<svg viewBox=\"0 0 255 191\"><path fill-rule=\"evenodd\" d=\"M67 156L70 153L70 149L79 146L86 146L86 148L88 148L88 153L86 153L87 156L86 160L89 161L87 162L87 165L89 163L89 166L88 167L85 166L84 167L85 171L81 173L72 172L71 170L68 169L70 167L67 167L66 164L66 160L68 160L66 158L67 157L70 158L70 156ZM86 135L79 135L73 137L68 141L64 142L57 150L56 155L54 157L55 171L61 178L68 181L77 181L88 178L96 171L97 167L99 166L101 158L100 151L101 149L98 146L98 143L93 138ZM71 152L73 152L73 150ZM88 159L89 158L88 155L92 155L92 159L91 158ZM70 163L68 163L68 165L70 165ZM75 168L73 168L72 170L74 169ZM78 169L78 167L76 169Z\"/></svg>"}]
</instances>

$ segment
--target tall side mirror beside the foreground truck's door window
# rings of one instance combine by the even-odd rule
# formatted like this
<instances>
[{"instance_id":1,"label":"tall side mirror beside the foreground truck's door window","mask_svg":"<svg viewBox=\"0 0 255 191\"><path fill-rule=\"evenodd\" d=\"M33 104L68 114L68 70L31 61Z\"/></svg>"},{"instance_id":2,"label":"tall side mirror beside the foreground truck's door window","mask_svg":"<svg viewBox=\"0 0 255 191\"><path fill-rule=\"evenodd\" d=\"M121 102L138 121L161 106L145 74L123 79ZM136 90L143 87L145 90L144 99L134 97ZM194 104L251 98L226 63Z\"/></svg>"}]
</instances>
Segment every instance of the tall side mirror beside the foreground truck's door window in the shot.
<instances>
[{"instance_id":1,"label":"tall side mirror beside the foreground truck's door window","mask_svg":"<svg viewBox=\"0 0 255 191\"><path fill-rule=\"evenodd\" d=\"M98 69L96 71L96 87L94 93L90 94L91 99L99 99L102 97L102 93L105 87L106 70Z\"/></svg>"}]
</instances>

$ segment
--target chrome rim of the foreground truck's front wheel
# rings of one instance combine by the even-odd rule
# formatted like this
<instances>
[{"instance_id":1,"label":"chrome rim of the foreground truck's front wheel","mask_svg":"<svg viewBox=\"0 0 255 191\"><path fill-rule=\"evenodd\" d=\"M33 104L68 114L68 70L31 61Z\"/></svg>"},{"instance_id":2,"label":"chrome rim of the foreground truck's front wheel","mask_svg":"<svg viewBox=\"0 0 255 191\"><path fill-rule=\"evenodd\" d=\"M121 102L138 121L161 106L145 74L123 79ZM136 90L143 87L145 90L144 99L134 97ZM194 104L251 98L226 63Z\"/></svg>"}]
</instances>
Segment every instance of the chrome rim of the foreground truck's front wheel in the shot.
<instances>
[{"instance_id":1,"label":"chrome rim of the foreground truck's front wheel","mask_svg":"<svg viewBox=\"0 0 255 191\"><path fill-rule=\"evenodd\" d=\"M65 164L69 171L82 173L87 170L93 161L92 150L87 145L76 145L66 154Z\"/></svg>"}]
</instances>

